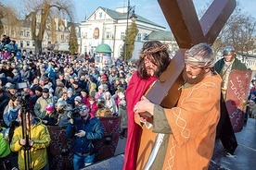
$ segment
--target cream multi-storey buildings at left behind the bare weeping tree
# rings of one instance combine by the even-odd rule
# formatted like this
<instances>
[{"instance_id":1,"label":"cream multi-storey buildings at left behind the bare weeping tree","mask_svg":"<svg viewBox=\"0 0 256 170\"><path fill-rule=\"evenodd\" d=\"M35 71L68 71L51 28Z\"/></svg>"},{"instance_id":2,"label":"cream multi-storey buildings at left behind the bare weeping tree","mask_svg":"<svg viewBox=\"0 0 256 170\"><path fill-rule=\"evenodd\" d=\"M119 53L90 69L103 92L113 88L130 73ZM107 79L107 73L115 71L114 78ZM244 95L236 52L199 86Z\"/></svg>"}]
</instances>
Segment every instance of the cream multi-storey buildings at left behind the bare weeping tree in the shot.
<instances>
[{"instance_id":1,"label":"cream multi-storey buildings at left behind the bare weeping tree","mask_svg":"<svg viewBox=\"0 0 256 170\"><path fill-rule=\"evenodd\" d=\"M40 24L40 17L38 18L37 23ZM53 23L55 25L53 25ZM80 42L80 31L78 25L78 23L75 23L78 42ZM47 49L69 51L71 22L63 18L54 18L53 22L48 19L45 27L45 33L42 41L43 51L47 51ZM54 27L55 30L51 30L51 27ZM38 31L38 28L36 31ZM34 51L34 41L32 39L30 21L19 20L16 25L11 25L4 20L3 35L4 34L9 36L12 41L15 40L19 49Z\"/></svg>"}]
</instances>

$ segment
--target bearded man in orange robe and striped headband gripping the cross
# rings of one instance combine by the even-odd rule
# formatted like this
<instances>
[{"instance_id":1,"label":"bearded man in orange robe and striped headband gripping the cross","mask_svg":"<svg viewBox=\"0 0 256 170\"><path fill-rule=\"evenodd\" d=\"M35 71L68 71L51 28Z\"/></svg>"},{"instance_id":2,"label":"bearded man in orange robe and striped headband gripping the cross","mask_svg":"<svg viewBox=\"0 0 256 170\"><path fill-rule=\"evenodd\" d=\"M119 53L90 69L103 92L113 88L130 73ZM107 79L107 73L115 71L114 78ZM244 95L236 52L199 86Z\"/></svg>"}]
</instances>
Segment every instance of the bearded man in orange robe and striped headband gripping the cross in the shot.
<instances>
[{"instance_id":1,"label":"bearded man in orange robe and striped headband gripping the cross","mask_svg":"<svg viewBox=\"0 0 256 170\"><path fill-rule=\"evenodd\" d=\"M205 43L193 46L186 52L185 60L185 84L175 107L162 108L145 97L134 105L140 122L146 123L146 119L139 114L149 113L147 116L152 117L153 123L147 128L157 133L147 163L140 164L140 169L209 167L220 117L222 79L213 69L215 58L211 46ZM142 136L141 140L147 137Z\"/></svg>"}]
</instances>

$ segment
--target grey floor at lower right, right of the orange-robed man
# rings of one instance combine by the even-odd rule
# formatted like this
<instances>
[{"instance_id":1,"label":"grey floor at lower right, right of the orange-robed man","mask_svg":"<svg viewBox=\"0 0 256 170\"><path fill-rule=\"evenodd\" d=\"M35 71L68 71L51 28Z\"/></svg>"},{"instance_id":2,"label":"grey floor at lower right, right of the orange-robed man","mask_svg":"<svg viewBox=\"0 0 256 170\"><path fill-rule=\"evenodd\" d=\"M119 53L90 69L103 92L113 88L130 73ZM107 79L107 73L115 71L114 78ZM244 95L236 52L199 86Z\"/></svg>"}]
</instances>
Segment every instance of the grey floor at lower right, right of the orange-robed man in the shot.
<instances>
[{"instance_id":1,"label":"grey floor at lower right, right of the orange-robed man","mask_svg":"<svg viewBox=\"0 0 256 170\"><path fill-rule=\"evenodd\" d=\"M256 169L256 120L250 118L242 131L236 133L236 138L238 146L234 157L225 156L222 143L216 140L211 170L215 170L215 167L227 170Z\"/></svg>"}]
</instances>

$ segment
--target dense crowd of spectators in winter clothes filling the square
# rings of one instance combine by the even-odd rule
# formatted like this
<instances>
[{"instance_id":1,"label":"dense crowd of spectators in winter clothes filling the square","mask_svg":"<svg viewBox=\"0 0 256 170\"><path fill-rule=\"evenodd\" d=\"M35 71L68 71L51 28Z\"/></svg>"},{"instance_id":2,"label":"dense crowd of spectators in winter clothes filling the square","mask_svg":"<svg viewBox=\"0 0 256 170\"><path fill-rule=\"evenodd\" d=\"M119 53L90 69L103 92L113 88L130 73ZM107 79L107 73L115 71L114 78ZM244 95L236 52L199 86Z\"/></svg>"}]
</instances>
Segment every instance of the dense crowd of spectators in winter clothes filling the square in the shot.
<instances>
[{"instance_id":1,"label":"dense crowd of spectators in winter clothes filling the square","mask_svg":"<svg viewBox=\"0 0 256 170\"><path fill-rule=\"evenodd\" d=\"M6 51L5 45L1 56ZM5 127L3 134L6 134L13 152L21 151L21 143L26 145L20 134L22 130L18 127L21 115L28 113L28 117L32 119L25 119L25 122L31 122L28 129L38 125L40 130L45 129L44 126L67 127L67 137L76 137L73 143L73 148L76 148L73 149L76 156L73 158L75 169L83 167L82 158L90 157L91 160L84 162L86 164L94 161L92 155L95 151L77 150L81 146L91 146L91 140L102 138L102 129L94 117L121 116L120 137L127 137L125 91L135 70L133 63L113 62L111 65L98 67L94 63L94 56L90 55L70 56L53 52L35 55L25 50L21 57L19 55L19 51L11 51L6 57L1 57L0 61L0 119ZM88 125L91 128L80 125L83 124L83 118L82 122L85 125L90 122ZM72 128L71 124L77 124L76 128ZM96 125L92 127L93 124ZM48 136L48 132L44 136ZM48 138L45 142L36 140L38 136L31 137L30 147L34 150L36 147L46 148L50 141ZM36 144L41 142L45 145ZM5 157L6 155L1 160ZM24 166L20 164L19 160L19 167L22 169ZM38 164L32 165L38 167ZM39 164L40 169L45 165Z\"/></svg>"}]
</instances>

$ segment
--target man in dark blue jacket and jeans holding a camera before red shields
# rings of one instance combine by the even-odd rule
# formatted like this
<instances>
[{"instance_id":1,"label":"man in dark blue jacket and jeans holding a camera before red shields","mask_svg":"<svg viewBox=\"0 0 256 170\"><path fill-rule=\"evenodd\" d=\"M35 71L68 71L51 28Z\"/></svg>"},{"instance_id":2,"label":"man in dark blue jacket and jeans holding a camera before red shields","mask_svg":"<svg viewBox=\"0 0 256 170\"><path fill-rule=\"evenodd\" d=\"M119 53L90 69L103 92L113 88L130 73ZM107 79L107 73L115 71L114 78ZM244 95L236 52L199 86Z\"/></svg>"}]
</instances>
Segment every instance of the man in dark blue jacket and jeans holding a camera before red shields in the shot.
<instances>
[{"instance_id":1,"label":"man in dark blue jacket and jeans holding a camera before red shields","mask_svg":"<svg viewBox=\"0 0 256 170\"><path fill-rule=\"evenodd\" d=\"M86 105L78 109L80 116L70 118L66 130L66 136L72 139L74 170L94 163L96 151L93 141L103 138L101 122L89 114L90 109Z\"/></svg>"}]
</instances>

